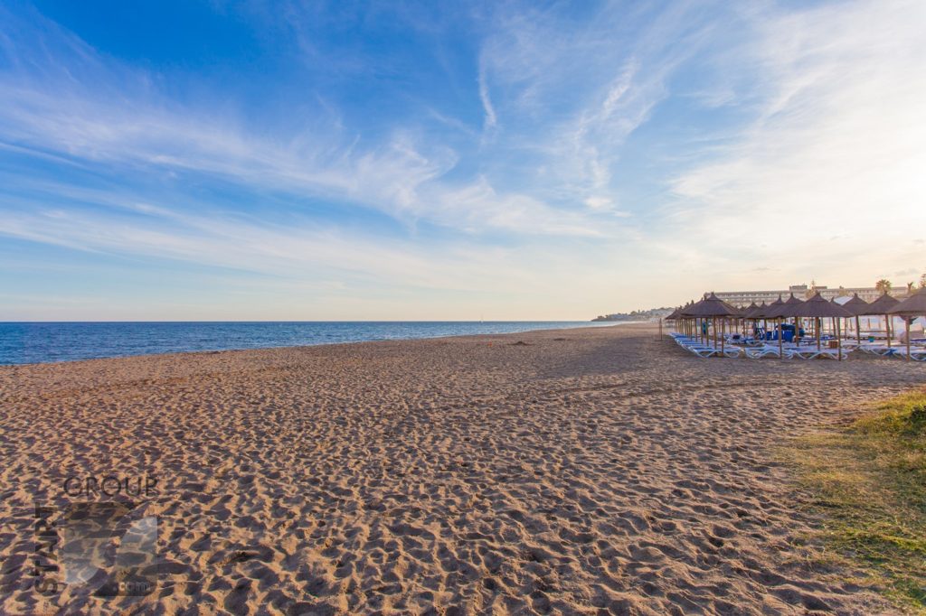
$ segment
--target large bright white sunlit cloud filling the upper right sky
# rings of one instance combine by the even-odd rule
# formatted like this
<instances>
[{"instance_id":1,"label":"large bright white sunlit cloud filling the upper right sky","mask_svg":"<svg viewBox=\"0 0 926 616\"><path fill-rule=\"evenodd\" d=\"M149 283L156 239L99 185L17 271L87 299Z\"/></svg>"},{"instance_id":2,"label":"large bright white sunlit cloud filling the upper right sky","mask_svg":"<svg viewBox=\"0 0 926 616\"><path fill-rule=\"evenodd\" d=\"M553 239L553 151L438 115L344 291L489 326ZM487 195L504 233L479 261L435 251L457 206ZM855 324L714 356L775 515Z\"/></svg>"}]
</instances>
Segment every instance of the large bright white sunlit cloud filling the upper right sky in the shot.
<instances>
[{"instance_id":1,"label":"large bright white sunlit cloud filling the upper right sky","mask_svg":"<svg viewBox=\"0 0 926 616\"><path fill-rule=\"evenodd\" d=\"M897 231L926 223L914 170L926 164L926 7L853 2L761 18L733 76L761 76L756 117L674 180L673 228L791 273L854 278L903 263Z\"/></svg>"}]
</instances>

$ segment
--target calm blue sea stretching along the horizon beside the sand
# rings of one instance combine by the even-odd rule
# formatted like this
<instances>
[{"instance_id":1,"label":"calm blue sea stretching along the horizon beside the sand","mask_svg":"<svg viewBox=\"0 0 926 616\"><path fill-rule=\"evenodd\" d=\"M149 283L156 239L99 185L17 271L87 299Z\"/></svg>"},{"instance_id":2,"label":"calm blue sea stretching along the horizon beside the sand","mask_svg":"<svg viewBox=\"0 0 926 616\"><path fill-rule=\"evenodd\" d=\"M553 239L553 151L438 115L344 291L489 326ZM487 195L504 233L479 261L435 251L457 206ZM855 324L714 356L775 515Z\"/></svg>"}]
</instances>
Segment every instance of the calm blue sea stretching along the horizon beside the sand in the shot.
<instances>
[{"instance_id":1,"label":"calm blue sea stretching along the horizon beside the sand","mask_svg":"<svg viewBox=\"0 0 926 616\"><path fill-rule=\"evenodd\" d=\"M588 321L0 323L0 364L607 325L614 324Z\"/></svg>"}]
</instances>

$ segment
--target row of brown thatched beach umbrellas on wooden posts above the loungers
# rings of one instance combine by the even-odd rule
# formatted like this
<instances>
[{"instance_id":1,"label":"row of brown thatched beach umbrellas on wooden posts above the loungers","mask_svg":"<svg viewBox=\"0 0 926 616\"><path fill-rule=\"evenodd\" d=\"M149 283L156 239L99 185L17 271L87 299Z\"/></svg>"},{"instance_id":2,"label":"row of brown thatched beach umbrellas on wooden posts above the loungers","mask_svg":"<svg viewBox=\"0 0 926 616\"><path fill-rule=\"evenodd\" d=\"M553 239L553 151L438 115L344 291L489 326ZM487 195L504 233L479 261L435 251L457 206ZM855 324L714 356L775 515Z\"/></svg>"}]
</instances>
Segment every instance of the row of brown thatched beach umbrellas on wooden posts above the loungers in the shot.
<instances>
[{"instance_id":1,"label":"row of brown thatched beach umbrellas on wooden posts above the loungers","mask_svg":"<svg viewBox=\"0 0 926 616\"><path fill-rule=\"evenodd\" d=\"M695 329L695 323L698 320L710 319L714 332L714 345L718 342L717 319L720 318L720 350L723 351L724 339L726 338L726 324L728 319L742 319L744 322L751 321L777 321L778 324L778 348L779 353L782 351L782 324L786 318L795 319L795 330L799 330L801 318L815 319L815 331L817 336L817 349L820 349L820 325L821 319L832 319L832 328L836 333L836 344L839 348L838 358L843 358L843 339L841 333L840 319L856 319L856 336L859 344L861 343L861 316L884 316L887 320L887 346L891 347L891 317L904 317L907 323L907 359L910 359L910 322L918 316L926 316L926 289L920 289L916 293L907 297L903 302L884 293L874 302L865 302L854 295L852 299L844 304L828 302L820 293L816 293L809 300L802 301L795 298L794 293L787 300L778 300L761 305L752 305L740 309L731 304L720 300L714 293L710 293L700 302L689 302L688 304L676 308L672 314L666 317L667 321L681 323L685 332L689 335L696 335L707 339L707 334ZM707 340L706 340L707 341Z\"/></svg>"}]
</instances>

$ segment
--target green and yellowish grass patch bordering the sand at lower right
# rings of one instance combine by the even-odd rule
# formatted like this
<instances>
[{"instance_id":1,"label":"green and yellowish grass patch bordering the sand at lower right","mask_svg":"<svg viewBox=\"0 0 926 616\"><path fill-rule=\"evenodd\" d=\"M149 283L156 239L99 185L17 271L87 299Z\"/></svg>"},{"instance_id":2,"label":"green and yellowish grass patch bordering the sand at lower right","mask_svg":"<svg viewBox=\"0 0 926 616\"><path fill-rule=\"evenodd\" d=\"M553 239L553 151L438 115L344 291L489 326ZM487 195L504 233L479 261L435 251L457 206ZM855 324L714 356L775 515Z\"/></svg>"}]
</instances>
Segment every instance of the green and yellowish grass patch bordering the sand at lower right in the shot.
<instances>
[{"instance_id":1,"label":"green and yellowish grass patch bordering the sand at lower right","mask_svg":"<svg viewBox=\"0 0 926 616\"><path fill-rule=\"evenodd\" d=\"M874 573L899 607L926 614L926 389L870 411L786 454L824 544Z\"/></svg>"}]
</instances>

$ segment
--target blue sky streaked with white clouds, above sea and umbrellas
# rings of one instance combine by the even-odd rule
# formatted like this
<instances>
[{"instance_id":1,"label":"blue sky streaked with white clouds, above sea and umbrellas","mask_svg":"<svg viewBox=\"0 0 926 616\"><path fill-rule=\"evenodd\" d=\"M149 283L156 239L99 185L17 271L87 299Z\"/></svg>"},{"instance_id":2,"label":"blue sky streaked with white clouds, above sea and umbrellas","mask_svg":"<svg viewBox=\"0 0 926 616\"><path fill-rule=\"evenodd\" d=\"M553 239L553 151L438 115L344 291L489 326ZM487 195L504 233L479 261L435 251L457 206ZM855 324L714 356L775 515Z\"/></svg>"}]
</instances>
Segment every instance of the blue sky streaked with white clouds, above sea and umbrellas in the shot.
<instances>
[{"instance_id":1,"label":"blue sky streaked with white clouds, above sea and umbrellas","mask_svg":"<svg viewBox=\"0 0 926 616\"><path fill-rule=\"evenodd\" d=\"M926 272L926 2L0 2L0 320Z\"/></svg>"}]
</instances>

